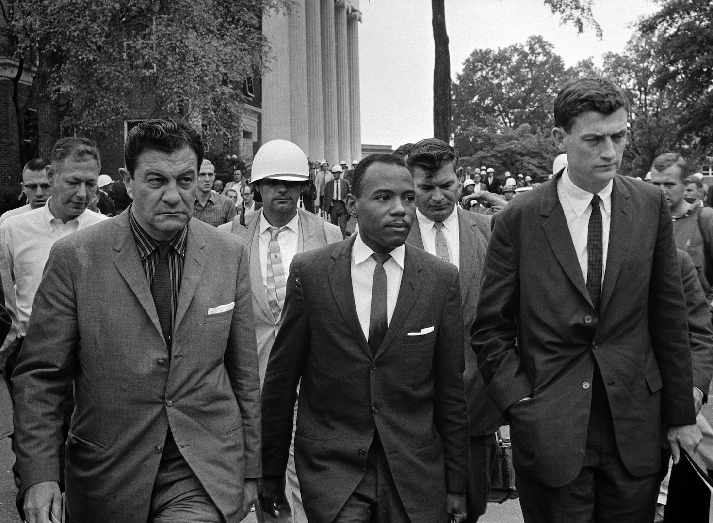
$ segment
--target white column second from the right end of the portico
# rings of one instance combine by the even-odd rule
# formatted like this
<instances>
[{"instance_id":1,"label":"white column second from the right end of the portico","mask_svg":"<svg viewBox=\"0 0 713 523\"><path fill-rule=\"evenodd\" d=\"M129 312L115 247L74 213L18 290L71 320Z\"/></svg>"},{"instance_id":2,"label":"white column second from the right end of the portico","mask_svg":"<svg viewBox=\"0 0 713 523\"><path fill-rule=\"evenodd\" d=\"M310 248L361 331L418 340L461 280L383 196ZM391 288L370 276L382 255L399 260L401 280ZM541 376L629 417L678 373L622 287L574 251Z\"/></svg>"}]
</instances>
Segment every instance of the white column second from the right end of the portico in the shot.
<instances>
[{"instance_id":1,"label":"white column second from the right end of the portico","mask_svg":"<svg viewBox=\"0 0 713 523\"><path fill-rule=\"evenodd\" d=\"M339 161L352 163L349 140L349 55L347 53L347 6L344 0L334 4L334 37L337 56L337 142Z\"/></svg>"}]
</instances>

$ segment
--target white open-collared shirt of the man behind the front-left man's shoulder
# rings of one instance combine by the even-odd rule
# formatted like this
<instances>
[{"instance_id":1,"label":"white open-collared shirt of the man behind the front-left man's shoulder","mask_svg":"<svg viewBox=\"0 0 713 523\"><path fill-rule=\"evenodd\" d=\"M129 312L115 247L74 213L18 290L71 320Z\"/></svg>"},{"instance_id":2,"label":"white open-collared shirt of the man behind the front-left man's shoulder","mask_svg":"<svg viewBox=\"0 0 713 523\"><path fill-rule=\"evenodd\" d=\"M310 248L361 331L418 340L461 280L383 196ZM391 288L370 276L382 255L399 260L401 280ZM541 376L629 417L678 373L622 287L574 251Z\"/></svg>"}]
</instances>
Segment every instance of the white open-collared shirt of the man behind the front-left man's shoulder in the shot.
<instances>
[{"instance_id":1,"label":"white open-collared shirt of the man behind the front-left man's shoulder","mask_svg":"<svg viewBox=\"0 0 713 523\"><path fill-rule=\"evenodd\" d=\"M9 283L14 285L14 299L9 300L8 285L3 282L6 300L13 308L13 322L17 322L17 329L13 325L15 337L26 334L32 302L52 245L59 238L107 219L102 214L86 209L77 218L62 223L49 210L50 201L51 198L43 207L12 216L0 226L0 246L3 250L0 258L4 258L1 263L2 276L3 280L10 278ZM8 341L13 341L14 337L10 338L8 336Z\"/></svg>"}]
</instances>

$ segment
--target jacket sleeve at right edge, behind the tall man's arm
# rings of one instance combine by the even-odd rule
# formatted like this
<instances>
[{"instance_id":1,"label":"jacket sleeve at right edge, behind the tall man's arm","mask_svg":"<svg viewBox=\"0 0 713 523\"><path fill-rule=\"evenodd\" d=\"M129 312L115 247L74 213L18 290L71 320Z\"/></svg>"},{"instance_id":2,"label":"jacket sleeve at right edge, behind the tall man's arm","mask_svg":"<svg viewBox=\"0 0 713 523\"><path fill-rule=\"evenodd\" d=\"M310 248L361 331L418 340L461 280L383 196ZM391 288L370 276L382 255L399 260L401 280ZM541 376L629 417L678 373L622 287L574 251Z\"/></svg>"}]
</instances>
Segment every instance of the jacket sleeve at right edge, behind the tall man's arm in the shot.
<instances>
[{"instance_id":1,"label":"jacket sleeve at right edge, behind the tall man's arm","mask_svg":"<svg viewBox=\"0 0 713 523\"><path fill-rule=\"evenodd\" d=\"M706 398L713 374L711 313L691 256L680 249L677 249L677 254L688 310L688 338L691 344L693 384L702 391Z\"/></svg>"}]
</instances>

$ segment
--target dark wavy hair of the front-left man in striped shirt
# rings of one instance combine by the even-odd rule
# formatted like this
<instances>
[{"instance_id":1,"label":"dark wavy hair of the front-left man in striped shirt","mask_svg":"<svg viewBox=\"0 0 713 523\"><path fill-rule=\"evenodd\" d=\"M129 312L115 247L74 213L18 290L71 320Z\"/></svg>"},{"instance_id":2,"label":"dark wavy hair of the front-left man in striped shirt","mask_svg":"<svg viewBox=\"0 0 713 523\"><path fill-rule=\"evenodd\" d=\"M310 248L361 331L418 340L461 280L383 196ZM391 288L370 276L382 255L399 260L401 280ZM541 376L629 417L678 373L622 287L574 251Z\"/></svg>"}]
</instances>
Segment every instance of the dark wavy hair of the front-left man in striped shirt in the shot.
<instances>
[{"instance_id":1,"label":"dark wavy hair of the front-left man in striped shirt","mask_svg":"<svg viewBox=\"0 0 713 523\"><path fill-rule=\"evenodd\" d=\"M178 118L154 118L141 122L129 131L124 145L124 164L133 178L138 157L146 150L172 153L190 147L198 157L200 171L205 147L200 134Z\"/></svg>"}]
</instances>

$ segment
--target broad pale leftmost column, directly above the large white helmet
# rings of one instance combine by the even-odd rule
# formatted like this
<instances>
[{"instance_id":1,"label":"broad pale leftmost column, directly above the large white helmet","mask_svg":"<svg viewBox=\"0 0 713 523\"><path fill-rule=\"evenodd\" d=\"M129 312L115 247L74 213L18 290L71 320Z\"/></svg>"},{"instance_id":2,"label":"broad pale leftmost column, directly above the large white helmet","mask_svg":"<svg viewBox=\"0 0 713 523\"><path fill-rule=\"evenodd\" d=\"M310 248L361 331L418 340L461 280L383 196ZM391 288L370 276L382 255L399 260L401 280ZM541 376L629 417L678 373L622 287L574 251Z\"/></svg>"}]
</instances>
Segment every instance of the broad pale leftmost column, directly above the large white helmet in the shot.
<instances>
[{"instance_id":1,"label":"broad pale leftmost column, directly above the large white helmet","mask_svg":"<svg viewBox=\"0 0 713 523\"><path fill-rule=\"evenodd\" d=\"M262 76L262 143L292 139L289 82L289 21L283 12L270 11L262 19L262 32L270 41L270 70Z\"/></svg>"}]
</instances>

